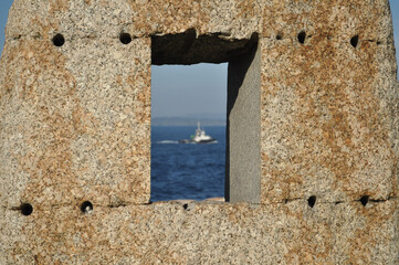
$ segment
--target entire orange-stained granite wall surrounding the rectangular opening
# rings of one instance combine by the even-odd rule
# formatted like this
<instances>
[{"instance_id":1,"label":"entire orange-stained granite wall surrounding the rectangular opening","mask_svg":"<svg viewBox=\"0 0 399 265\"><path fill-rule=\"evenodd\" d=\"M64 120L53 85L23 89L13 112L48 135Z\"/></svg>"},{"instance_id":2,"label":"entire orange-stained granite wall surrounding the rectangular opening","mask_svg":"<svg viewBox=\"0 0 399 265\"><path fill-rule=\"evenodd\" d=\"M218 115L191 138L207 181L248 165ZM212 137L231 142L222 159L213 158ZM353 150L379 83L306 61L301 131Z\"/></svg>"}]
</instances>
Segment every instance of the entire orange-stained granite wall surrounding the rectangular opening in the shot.
<instances>
[{"instance_id":1,"label":"entire orange-stained granite wall surrounding the rectangular opening","mask_svg":"<svg viewBox=\"0 0 399 265\"><path fill-rule=\"evenodd\" d=\"M147 204L151 63L234 61L255 44L260 201ZM387 0L15 0L0 264L399 264L396 68Z\"/></svg>"}]
</instances>

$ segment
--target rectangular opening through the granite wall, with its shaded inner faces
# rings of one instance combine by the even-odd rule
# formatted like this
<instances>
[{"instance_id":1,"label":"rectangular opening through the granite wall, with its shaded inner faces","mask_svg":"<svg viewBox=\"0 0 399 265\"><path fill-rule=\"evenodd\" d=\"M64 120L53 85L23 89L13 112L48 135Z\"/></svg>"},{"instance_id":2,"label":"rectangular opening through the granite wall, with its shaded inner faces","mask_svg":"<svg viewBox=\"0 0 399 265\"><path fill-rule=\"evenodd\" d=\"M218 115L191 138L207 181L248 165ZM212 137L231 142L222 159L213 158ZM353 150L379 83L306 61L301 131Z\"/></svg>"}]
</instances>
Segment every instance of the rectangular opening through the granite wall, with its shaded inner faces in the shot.
<instances>
[{"instance_id":1,"label":"rectangular opening through the granite wall, with its shaded inner faces","mask_svg":"<svg viewBox=\"0 0 399 265\"><path fill-rule=\"evenodd\" d=\"M151 61L151 201L260 203L258 34L156 35ZM196 142L198 121L214 142Z\"/></svg>"}]
</instances>

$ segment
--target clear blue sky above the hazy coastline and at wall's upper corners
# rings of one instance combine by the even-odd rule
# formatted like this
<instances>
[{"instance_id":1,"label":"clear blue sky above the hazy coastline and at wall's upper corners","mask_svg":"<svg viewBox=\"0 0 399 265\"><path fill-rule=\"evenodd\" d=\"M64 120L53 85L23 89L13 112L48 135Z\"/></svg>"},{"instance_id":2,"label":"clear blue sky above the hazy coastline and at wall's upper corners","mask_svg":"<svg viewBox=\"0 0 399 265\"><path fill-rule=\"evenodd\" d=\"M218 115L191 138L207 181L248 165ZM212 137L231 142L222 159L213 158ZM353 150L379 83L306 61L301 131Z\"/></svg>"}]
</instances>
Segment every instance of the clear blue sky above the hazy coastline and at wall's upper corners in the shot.
<instances>
[{"instance_id":1,"label":"clear blue sky above the hazy coastline and at wall's upper corners","mask_svg":"<svg viewBox=\"0 0 399 265\"><path fill-rule=\"evenodd\" d=\"M0 51L12 0L0 0ZM399 0L390 0L399 62ZM225 117L228 64L151 67L153 117Z\"/></svg>"}]
</instances>

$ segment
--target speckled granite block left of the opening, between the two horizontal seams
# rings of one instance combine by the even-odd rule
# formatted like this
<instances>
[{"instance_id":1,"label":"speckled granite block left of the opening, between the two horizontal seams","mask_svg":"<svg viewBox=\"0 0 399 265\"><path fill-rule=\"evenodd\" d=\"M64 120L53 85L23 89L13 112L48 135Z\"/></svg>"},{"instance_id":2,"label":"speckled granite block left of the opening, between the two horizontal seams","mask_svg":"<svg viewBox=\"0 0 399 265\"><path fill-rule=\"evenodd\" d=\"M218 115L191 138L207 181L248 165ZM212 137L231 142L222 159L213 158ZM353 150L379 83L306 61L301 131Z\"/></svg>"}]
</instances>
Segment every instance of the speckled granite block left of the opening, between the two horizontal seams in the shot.
<instances>
[{"instance_id":1,"label":"speckled granite block left of the opening, between the two horizontal seams","mask_svg":"<svg viewBox=\"0 0 399 265\"><path fill-rule=\"evenodd\" d=\"M49 40L7 46L3 204L148 202L149 54L147 38L129 45L82 39L61 47Z\"/></svg>"}]
</instances>

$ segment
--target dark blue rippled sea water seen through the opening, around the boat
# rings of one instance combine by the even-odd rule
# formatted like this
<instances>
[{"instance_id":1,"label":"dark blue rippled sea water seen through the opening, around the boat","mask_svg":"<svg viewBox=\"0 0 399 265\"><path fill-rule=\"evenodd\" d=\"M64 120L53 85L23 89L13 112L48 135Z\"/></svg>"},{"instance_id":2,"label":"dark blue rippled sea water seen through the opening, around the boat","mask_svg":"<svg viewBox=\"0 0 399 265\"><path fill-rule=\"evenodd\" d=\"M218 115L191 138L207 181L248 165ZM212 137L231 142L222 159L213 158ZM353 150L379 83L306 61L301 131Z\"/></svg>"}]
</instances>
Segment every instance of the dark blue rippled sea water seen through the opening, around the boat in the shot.
<instances>
[{"instance_id":1,"label":"dark blue rippled sea water seen through the opening, around the boat","mask_svg":"<svg viewBox=\"0 0 399 265\"><path fill-rule=\"evenodd\" d=\"M195 126L151 127L151 201L224 197L225 127L203 128L213 144L179 144Z\"/></svg>"}]
</instances>

